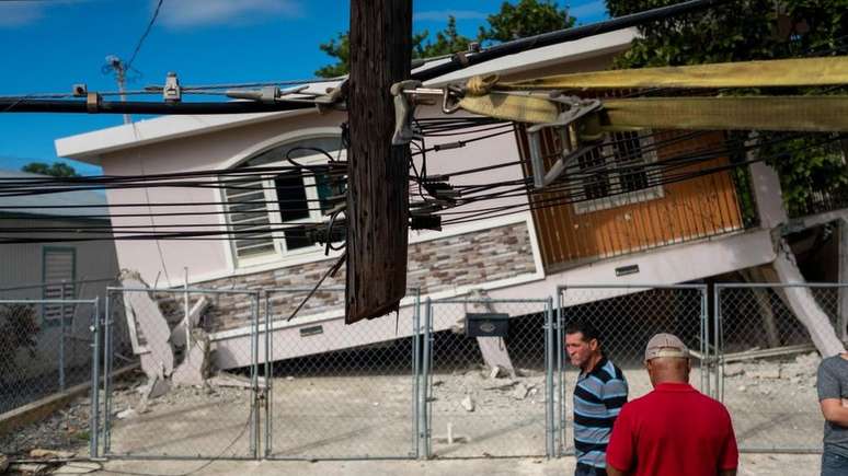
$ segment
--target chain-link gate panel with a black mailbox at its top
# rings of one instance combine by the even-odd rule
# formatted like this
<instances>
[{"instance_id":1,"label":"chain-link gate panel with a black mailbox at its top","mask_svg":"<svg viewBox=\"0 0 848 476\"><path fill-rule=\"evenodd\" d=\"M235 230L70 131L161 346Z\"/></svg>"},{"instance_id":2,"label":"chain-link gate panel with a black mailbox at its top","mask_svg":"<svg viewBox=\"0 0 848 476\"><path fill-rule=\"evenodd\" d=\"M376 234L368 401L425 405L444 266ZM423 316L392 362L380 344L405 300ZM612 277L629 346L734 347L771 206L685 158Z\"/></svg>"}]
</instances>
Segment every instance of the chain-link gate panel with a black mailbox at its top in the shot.
<instances>
[{"instance_id":1,"label":"chain-link gate panel with a black mailbox at its top","mask_svg":"<svg viewBox=\"0 0 848 476\"><path fill-rule=\"evenodd\" d=\"M424 454L552 455L551 303L427 301Z\"/></svg>"}]
</instances>

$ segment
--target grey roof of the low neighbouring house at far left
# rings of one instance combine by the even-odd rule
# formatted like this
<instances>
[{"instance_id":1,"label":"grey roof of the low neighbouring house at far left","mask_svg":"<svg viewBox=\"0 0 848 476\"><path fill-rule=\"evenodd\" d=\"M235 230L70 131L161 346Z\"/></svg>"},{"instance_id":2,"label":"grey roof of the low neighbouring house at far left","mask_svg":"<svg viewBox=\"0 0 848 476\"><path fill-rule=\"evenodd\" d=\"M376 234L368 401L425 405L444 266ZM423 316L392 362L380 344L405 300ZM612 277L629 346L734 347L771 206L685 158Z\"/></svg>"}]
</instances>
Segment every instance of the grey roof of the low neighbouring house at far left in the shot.
<instances>
[{"instance_id":1,"label":"grey roof of the low neighbouring house at far left","mask_svg":"<svg viewBox=\"0 0 848 476\"><path fill-rule=\"evenodd\" d=\"M31 174L0 169L0 179L4 178L43 178L47 175ZM56 206L85 205L84 208L50 208ZM39 207L39 208L13 208ZM57 218L81 218L90 214L108 214L106 196L100 191L76 190L57 194L4 196L0 200L2 214L36 214Z\"/></svg>"}]
</instances>

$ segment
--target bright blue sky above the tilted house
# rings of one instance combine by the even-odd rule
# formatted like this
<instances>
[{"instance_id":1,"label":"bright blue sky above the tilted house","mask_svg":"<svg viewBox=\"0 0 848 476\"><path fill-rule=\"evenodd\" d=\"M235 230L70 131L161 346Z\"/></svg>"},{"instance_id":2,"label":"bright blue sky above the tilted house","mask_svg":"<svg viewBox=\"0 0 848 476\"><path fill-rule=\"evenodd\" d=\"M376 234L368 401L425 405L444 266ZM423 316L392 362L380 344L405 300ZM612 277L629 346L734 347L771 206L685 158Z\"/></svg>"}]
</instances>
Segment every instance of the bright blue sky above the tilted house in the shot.
<instances>
[{"instance_id":1,"label":"bright blue sky above the tilted house","mask_svg":"<svg viewBox=\"0 0 848 476\"><path fill-rule=\"evenodd\" d=\"M417 0L414 30L438 31L449 14L473 36L503 0ZM0 95L116 90L102 72L107 55L127 60L150 21L157 0L0 0ZM456 5L460 7L457 8ZM572 0L578 23L606 16L603 0ZM183 84L307 79L330 59L320 43L347 30L342 0L164 0L157 23L133 67L128 89L164 81L176 71ZM122 124L119 115L0 114L0 169L56 161L54 139ZM68 161L85 175L91 165Z\"/></svg>"}]
</instances>

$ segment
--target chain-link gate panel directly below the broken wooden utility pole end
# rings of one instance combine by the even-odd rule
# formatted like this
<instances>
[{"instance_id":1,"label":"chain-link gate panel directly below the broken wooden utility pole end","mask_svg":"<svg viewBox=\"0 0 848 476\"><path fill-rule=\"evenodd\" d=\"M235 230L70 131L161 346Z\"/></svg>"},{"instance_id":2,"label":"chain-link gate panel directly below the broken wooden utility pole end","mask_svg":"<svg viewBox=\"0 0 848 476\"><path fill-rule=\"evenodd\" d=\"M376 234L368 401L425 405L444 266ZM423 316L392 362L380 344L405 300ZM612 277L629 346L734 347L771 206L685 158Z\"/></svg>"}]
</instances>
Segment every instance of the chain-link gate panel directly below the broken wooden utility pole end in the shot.
<instances>
[{"instance_id":1,"label":"chain-link gate panel directly below the broken wooden utility pole end","mask_svg":"<svg viewBox=\"0 0 848 476\"><path fill-rule=\"evenodd\" d=\"M344 323L344 289L265 291L265 457L414 458L417 290L399 314ZM270 356L270 359L265 359Z\"/></svg>"}]
</instances>

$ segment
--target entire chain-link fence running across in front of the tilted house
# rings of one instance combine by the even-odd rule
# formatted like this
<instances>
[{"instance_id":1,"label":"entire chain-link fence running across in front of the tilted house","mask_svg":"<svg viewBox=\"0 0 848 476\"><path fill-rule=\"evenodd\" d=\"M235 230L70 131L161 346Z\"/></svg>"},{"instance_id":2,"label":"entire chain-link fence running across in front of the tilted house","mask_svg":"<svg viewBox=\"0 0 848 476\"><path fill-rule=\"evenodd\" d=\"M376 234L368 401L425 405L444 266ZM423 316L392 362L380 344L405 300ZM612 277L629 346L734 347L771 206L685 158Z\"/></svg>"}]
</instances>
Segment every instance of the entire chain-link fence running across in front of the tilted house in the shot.
<instances>
[{"instance_id":1,"label":"entire chain-link fence running across in front of the tilted house","mask_svg":"<svg viewBox=\"0 0 848 476\"><path fill-rule=\"evenodd\" d=\"M821 451L807 326L845 339L848 310L848 285L715 285L709 299L706 285L595 285L561 288L555 314L547 298L420 305L411 291L394 318L346 326L341 289L295 313L311 291L110 288L105 314L96 299L0 301L1 409L137 365L94 394L93 455L555 456L573 451L564 329L585 320L628 399L651 390L648 339L673 333L743 451Z\"/></svg>"}]
</instances>

